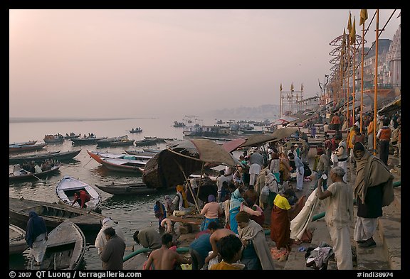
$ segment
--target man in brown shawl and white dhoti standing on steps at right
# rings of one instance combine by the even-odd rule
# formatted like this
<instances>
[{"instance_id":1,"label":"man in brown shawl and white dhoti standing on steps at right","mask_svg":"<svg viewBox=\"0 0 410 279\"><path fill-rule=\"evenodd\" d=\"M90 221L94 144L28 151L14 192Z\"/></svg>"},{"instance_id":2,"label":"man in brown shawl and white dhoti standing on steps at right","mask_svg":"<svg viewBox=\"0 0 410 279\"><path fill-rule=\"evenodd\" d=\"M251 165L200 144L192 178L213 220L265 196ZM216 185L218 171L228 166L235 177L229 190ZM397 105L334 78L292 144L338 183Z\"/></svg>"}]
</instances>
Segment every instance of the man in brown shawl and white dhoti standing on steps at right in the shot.
<instances>
[{"instance_id":1,"label":"man in brown shawl and white dhoti standing on steps at right","mask_svg":"<svg viewBox=\"0 0 410 279\"><path fill-rule=\"evenodd\" d=\"M354 143L353 153L357 164L353 187L357 221L353 239L359 247L369 248L376 246L373 234L377 229L377 218L383 214L382 207L394 201L394 177L382 160L370 154L362 143Z\"/></svg>"}]
</instances>

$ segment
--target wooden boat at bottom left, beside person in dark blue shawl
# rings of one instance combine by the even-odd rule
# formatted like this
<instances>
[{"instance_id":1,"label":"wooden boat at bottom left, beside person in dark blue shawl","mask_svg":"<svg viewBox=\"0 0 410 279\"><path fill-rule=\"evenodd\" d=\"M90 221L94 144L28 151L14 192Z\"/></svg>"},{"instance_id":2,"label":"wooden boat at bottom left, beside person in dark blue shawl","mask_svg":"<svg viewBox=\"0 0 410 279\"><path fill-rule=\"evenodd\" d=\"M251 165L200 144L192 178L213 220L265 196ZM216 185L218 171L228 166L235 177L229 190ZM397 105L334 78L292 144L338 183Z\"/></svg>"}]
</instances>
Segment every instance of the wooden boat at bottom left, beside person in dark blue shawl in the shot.
<instances>
[{"instance_id":1,"label":"wooden boat at bottom left, beside person in dark blue shawl","mask_svg":"<svg viewBox=\"0 0 410 279\"><path fill-rule=\"evenodd\" d=\"M31 256L28 267L31 270L78 269L85 253L85 235L70 220L63 221L48 234L46 253L41 266Z\"/></svg>"}]
</instances>

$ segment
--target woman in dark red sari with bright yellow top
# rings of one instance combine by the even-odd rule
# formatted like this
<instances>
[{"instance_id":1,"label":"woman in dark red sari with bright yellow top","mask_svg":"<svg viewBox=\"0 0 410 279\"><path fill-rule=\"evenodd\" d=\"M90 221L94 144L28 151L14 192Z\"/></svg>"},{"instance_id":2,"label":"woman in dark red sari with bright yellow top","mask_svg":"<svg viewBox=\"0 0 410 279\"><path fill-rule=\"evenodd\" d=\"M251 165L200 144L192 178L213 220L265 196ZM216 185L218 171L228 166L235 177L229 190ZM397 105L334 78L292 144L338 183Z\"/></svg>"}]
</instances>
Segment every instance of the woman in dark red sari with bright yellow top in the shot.
<instances>
[{"instance_id":1,"label":"woman in dark red sari with bright yellow top","mask_svg":"<svg viewBox=\"0 0 410 279\"><path fill-rule=\"evenodd\" d=\"M270 213L270 239L275 241L276 248L286 248L290 251L290 218L288 197L292 196L293 190L288 188L283 194L276 195L273 200L273 208Z\"/></svg>"}]
</instances>

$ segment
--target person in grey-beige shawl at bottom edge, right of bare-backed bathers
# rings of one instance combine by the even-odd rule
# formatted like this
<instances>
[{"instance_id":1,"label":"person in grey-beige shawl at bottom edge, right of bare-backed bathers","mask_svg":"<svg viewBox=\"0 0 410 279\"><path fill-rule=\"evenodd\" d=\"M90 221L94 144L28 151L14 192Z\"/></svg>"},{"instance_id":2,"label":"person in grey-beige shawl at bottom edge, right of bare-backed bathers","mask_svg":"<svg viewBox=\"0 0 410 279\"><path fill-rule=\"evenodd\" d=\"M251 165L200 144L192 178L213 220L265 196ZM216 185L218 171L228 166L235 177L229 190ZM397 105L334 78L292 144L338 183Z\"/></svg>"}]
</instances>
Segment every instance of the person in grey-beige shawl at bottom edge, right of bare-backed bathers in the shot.
<instances>
[{"instance_id":1,"label":"person in grey-beige shawl at bottom edge, right of bare-backed bathers","mask_svg":"<svg viewBox=\"0 0 410 279\"><path fill-rule=\"evenodd\" d=\"M249 219L249 214L246 212L236 214L236 221L238 222L239 238L245 247L241 263L244 263L246 268L250 270L275 269L262 226Z\"/></svg>"}]
</instances>

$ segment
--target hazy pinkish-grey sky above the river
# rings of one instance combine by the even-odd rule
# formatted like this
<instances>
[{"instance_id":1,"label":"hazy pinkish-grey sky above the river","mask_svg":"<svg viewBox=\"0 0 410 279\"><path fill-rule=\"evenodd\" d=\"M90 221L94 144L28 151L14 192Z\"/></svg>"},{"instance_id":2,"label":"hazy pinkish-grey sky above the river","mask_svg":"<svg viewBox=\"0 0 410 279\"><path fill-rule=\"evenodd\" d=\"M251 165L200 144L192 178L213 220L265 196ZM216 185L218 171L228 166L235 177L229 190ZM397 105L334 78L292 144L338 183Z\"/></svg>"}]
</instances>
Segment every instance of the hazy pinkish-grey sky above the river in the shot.
<instances>
[{"instance_id":1,"label":"hazy pinkish-grey sky above the river","mask_svg":"<svg viewBox=\"0 0 410 279\"><path fill-rule=\"evenodd\" d=\"M394 10L380 10L379 28ZM392 39L399 11L379 38ZM359 26L359 9L351 10ZM375 10L369 9L366 27ZM9 11L9 116L156 117L320 93L339 10ZM365 38L370 47L376 20ZM174 119L172 119L174 120Z\"/></svg>"}]
</instances>

